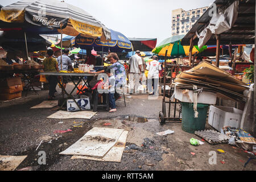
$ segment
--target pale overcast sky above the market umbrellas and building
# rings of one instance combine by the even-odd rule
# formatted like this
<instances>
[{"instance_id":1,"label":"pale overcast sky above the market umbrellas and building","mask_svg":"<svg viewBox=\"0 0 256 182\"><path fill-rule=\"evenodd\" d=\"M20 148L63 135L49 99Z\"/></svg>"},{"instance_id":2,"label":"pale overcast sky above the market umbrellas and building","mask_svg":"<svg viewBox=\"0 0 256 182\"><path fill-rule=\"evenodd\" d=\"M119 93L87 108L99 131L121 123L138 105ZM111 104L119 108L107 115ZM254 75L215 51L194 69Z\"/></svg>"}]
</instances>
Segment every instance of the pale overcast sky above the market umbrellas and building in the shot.
<instances>
[{"instance_id":1,"label":"pale overcast sky above the market umbrellas and building","mask_svg":"<svg viewBox=\"0 0 256 182\"><path fill-rule=\"evenodd\" d=\"M59 0L58 0L59 1ZM128 38L157 38L159 44L171 36L171 12L209 6L214 0L65 0L84 9L106 27ZM7 6L15 0L0 0Z\"/></svg>"}]
</instances>

